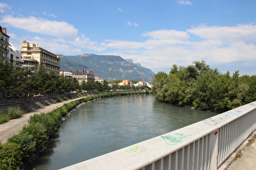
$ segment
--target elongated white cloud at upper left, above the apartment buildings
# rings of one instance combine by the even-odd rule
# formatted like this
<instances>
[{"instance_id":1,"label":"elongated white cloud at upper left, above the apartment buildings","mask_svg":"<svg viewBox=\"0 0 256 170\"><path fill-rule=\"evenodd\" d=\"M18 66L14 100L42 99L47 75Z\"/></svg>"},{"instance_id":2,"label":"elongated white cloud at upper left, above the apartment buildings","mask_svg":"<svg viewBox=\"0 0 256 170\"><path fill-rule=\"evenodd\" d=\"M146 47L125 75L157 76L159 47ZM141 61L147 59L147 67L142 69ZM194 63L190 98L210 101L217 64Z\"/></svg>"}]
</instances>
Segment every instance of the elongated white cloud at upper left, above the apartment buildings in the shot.
<instances>
[{"instance_id":1,"label":"elongated white cloud at upper left, above the apartment buildings","mask_svg":"<svg viewBox=\"0 0 256 170\"><path fill-rule=\"evenodd\" d=\"M51 21L33 16L29 16L28 18L15 18L11 15L5 15L1 23L7 23L15 28L22 28L28 32L37 32L64 39L73 39L77 35L76 28L69 23L64 21Z\"/></svg>"}]
</instances>

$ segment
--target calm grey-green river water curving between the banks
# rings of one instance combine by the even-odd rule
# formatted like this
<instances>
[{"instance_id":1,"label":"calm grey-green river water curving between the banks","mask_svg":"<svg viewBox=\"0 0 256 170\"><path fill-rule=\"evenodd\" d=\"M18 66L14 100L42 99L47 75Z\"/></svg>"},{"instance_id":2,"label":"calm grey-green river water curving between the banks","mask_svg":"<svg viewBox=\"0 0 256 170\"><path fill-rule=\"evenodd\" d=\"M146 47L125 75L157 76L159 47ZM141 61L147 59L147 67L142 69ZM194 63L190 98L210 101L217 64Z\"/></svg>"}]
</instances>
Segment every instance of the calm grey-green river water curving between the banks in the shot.
<instances>
[{"instance_id":1,"label":"calm grey-green river water curving between the banks","mask_svg":"<svg viewBox=\"0 0 256 170\"><path fill-rule=\"evenodd\" d=\"M74 111L27 169L64 168L213 116L160 102L153 95L96 100Z\"/></svg>"}]
</instances>

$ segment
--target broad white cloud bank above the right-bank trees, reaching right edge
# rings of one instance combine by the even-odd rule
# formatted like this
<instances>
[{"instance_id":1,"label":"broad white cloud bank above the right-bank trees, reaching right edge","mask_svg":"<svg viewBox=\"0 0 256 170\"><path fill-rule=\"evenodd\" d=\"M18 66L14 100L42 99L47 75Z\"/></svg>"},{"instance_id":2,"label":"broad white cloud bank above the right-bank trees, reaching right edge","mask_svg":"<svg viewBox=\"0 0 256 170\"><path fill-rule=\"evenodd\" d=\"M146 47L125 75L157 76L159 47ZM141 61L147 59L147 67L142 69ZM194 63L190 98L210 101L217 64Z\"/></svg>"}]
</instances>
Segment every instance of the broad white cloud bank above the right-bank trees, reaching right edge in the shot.
<instances>
[{"instance_id":1,"label":"broad white cloud bank above the right-bank trees, reaching right edge","mask_svg":"<svg viewBox=\"0 0 256 170\"><path fill-rule=\"evenodd\" d=\"M255 25L233 27L199 26L186 32L176 30L157 30L145 32L148 37L143 42L126 40L106 40L104 48L114 49L124 58L141 62L152 70L191 65L193 61L206 60L207 64L256 62ZM194 39L194 36L200 38ZM242 66L242 65L241 65ZM237 66L237 70L240 70ZM224 71L227 71L224 70Z\"/></svg>"}]
</instances>

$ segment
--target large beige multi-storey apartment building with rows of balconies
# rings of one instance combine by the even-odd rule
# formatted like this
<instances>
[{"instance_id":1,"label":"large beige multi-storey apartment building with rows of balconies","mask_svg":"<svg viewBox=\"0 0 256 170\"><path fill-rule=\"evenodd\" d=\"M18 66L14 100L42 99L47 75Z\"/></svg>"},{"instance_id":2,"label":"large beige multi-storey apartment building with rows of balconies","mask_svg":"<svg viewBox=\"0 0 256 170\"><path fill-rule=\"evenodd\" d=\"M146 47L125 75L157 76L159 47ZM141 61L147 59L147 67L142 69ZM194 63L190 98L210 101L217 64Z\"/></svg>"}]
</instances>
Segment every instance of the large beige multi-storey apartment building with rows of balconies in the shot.
<instances>
[{"instance_id":1,"label":"large beige multi-storey apartment building with rows of balconies","mask_svg":"<svg viewBox=\"0 0 256 170\"><path fill-rule=\"evenodd\" d=\"M26 40L22 43L21 57L24 60L24 67L27 67L37 74L39 66L44 65L46 72L54 71L59 74L59 55L50 53L46 49L42 49L38 44L28 43Z\"/></svg>"}]
</instances>

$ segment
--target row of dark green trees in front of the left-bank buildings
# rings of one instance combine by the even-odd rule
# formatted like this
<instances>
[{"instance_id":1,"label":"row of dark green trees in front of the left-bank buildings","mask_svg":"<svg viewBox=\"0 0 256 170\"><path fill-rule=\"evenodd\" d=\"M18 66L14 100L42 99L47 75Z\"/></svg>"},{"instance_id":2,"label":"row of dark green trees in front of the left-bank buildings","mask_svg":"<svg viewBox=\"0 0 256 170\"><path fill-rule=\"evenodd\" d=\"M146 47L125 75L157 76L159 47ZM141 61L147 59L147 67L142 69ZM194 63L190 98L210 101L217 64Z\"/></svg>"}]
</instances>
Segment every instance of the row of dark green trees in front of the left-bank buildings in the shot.
<instances>
[{"instance_id":1,"label":"row of dark green trees in front of the left-bank buildings","mask_svg":"<svg viewBox=\"0 0 256 170\"><path fill-rule=\"evenodd\" d=\"M28 96L30 94L55 94L55 93L65 93L70 91L109 91L109 90L137 90L138 87L119 87L113 85L108 86L108 81L104 80L104 83L98 83L93 81L88 81L78 83L76 78L70 79L64 76L59 76L54 72L46 73L46 68L40 66L38 73L31 76L30 70L21 68L18 65L13 65L11 62L6 60L0 61L0 92L2 96L4 94L10 93L19 96ZM145 87L140 87L144 89Z\"/></svg>"}]
</instances>

